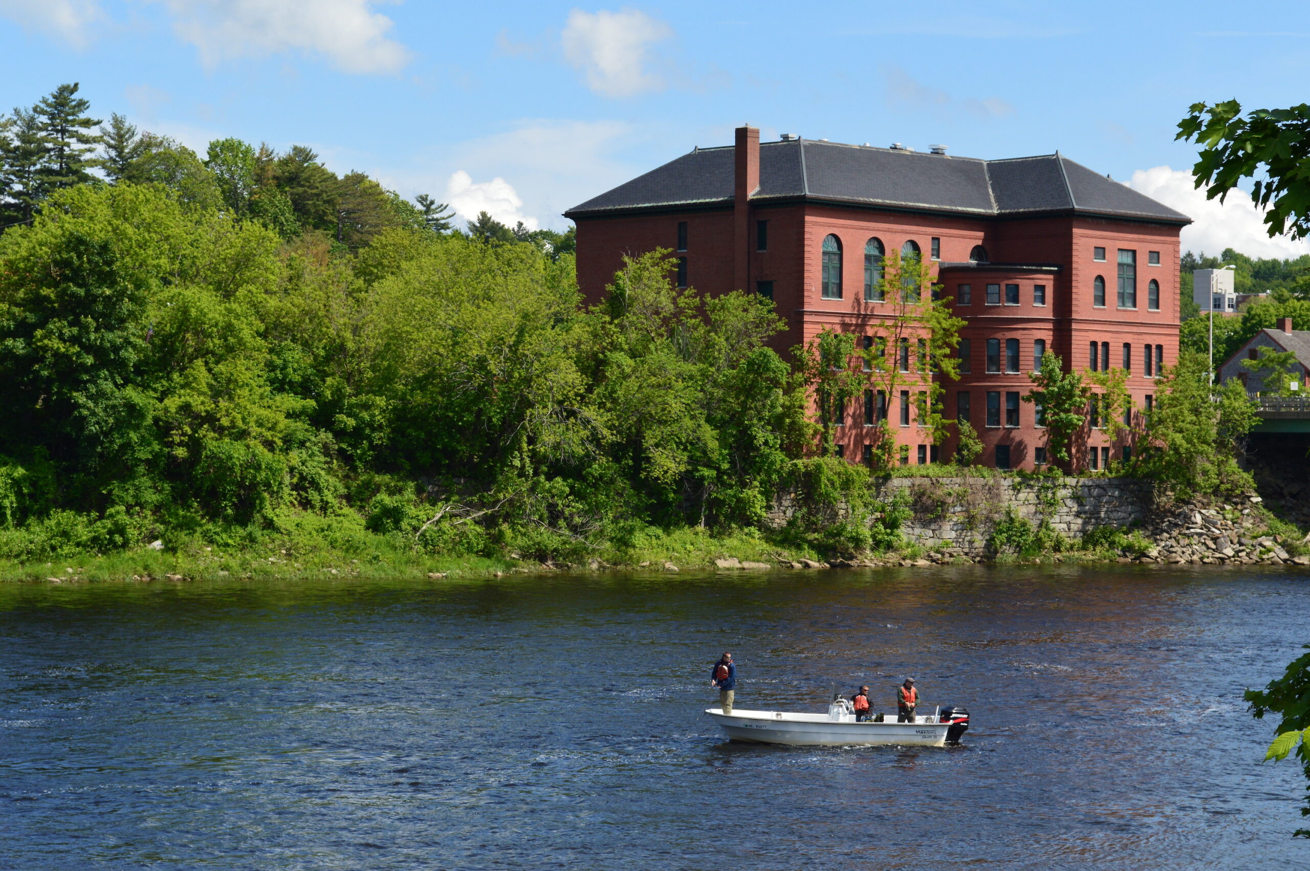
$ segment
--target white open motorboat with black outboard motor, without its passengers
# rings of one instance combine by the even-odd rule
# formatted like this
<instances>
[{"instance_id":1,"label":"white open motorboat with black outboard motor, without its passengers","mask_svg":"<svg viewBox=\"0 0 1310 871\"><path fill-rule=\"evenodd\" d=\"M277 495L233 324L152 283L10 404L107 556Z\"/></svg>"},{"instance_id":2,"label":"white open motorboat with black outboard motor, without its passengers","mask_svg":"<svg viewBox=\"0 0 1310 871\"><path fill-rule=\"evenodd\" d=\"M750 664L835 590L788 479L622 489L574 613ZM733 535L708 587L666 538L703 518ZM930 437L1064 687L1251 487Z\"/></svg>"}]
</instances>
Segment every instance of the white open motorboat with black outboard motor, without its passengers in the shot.
<instances>
[{"instance_id":1,"label":"white open motorboat with black outboard motor, without its passengers","mask_svg":"<svg viewBox=\"0 0 1310 871\"><path fill-rule=\"evenodd\" d=\"M857 723L850 702L844 698L834 699L827 714L738 709L724 714L718 707L707 707L705 713L728 737L762 744L945 747L947 741L959 741L969 727L969 713L963 707L938 709L931 715L916 716L913 723L897 723L895 714Z\"/></svg>"}]
</instances>

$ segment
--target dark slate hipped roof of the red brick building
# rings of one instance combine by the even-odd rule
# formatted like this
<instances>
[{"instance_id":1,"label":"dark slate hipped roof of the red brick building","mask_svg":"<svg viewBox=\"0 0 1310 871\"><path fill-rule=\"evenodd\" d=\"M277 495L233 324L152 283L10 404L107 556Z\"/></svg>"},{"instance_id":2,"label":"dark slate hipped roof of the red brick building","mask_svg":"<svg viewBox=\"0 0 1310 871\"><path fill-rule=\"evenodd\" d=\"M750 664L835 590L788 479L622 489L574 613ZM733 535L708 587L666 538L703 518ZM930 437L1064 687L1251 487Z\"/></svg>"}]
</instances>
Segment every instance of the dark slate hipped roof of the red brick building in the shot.
<instances>
[{"instance_id":1,"label":"dark slate hipped roof of the red brick building","mask_svg":"<svg viewBox=\"0 0 1310 871\"><path fill-rule=\"evenodd\" d=\"M572 207L569 217L732 202L732 147L698 148ZM979 216L1191 219L1062 155L977 160L795 139L761 143L752 200L817 199Z\"/></svg>"}]
</instances>

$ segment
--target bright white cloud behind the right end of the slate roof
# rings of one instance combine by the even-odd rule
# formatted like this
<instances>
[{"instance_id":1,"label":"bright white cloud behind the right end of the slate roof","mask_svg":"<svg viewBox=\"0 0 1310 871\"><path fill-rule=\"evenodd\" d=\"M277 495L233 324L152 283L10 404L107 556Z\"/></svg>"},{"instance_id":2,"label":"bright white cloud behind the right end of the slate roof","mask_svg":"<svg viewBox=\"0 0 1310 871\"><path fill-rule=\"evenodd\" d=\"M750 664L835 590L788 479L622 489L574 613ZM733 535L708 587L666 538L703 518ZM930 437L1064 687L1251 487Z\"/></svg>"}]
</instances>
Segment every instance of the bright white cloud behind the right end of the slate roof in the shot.
<instances>
[{"instance_id":1,"label":"bright white cloud behind the right end of the slate roof","mask_svg":"<svg viewBox=\"0 0 1310 871\"><path fill-rule=\"evenodd\" d=\"M1286 258L1310 254L1307 240L1289 236L1269 238L1264 216L1246 191L1230 191L1221 204L1217 199L1205 199L1205 189L1193 186L1191 173L1170 166L1138 169L1128 186L1192 219L1183 228L1184 251L1218 254L1225 248L1231 248L1250 257Z\"/></svg>"}]
</instances>

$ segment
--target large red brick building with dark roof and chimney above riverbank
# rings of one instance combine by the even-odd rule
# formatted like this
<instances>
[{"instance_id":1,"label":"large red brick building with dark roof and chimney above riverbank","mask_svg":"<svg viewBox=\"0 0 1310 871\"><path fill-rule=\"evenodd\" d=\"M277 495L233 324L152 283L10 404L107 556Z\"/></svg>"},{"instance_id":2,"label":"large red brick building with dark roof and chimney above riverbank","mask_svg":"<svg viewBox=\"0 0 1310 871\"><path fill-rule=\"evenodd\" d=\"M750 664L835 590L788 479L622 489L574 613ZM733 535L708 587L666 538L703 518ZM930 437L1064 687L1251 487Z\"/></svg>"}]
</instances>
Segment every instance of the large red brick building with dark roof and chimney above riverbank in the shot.
<instances>
[{"instance_id":1,"label":"large red brick building with dark roof and chimney above riverbank","mask_svg":"<svg viewBox=\"0 0 1310 871\"><path fill-rule=\"evenodd\" d=\"M779 351L825 327L869 335L886 317L866 299L869 270L886 253L918 253L967 324L943 410L971 420L986 465L1045 461L1045 431L1020 401L1044 351L1066 368L1127 368L1137 409L1178 355L1178 237L1189 219L1058 153L984 161L937 148L761 144L741 127L735 145L696 148L566 216L590 303L624 254L673 249L680 284L770 296L787 321ZM900 401L891 398L886 422L896 441L909 445L909 462L935 458L931 434L913 413L907 422ZM850 458L870 443L858 405L837 436ZM1132 448L1100 423L1079 434L1078 468L1103 469ZM945 460L954 444L942 449Z\"/></svg>"}]
</instances>

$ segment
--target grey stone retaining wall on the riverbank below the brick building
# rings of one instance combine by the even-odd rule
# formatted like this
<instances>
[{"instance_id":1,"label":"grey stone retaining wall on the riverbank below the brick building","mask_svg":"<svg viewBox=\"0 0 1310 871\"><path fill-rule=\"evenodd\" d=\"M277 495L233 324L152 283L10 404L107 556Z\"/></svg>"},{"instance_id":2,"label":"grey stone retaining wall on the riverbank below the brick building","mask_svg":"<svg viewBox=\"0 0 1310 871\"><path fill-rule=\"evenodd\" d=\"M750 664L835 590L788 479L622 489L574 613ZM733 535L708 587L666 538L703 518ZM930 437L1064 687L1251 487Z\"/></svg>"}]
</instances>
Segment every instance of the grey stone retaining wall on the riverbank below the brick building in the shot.
<instances>
[{"instance_id":1,"label":"grey stone retaining wall on the riverbank below the brick building","mask_svg":"<svg viewBox=\"0 0 1310 871\"><path fill-rule=\"evenodd\" d=\"M1074 537L1098 527L1142 523L1153 503L1151 483L1137 478L886 478L875 486L880 502L905 494L913 512L901 527L908 540L963 555L984 553L1006 508ZM779 495L768 523L786 525L796 507L795 494Z\"/></svg>"}]
</instances>

